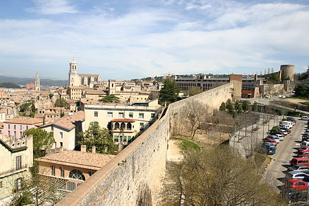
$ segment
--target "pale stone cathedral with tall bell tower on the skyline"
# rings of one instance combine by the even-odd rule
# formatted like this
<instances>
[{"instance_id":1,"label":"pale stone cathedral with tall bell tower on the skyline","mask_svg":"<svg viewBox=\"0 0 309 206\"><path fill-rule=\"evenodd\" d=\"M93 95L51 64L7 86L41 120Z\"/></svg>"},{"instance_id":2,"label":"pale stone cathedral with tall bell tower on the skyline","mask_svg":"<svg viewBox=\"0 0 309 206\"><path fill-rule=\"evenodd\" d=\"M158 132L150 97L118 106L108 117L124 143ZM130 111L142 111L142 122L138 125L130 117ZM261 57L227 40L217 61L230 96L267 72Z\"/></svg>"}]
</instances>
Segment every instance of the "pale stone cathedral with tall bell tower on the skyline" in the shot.
<instances>
[{"instance_id":1,"label":"pale stone cathedral with tall bell tower on the skyline","mask_svg":"<svg viewBox=\"0 0 309 206\"><path fill-rule=\"evenodd\" d=\"M69 65L69 86L93 87L93 84L99 84L100 75L78 73L78 62L76 62L74 58L71 60Z\"/></svg>"}]
</instances>

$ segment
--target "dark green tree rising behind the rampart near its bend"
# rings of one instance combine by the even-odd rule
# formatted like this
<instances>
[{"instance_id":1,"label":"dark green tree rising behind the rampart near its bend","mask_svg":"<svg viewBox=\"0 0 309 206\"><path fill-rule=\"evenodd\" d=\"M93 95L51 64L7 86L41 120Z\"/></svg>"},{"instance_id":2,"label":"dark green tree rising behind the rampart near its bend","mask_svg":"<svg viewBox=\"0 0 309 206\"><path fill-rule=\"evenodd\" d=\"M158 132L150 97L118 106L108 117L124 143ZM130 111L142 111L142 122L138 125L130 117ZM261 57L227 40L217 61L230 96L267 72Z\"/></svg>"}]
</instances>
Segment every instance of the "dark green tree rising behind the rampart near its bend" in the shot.
<instances>
[{"instance_id":1,"label":"dark green tree rising behind the rampart near its bend","mask_svg":"<svg viewBox=\"0 0 309 206\"><path fill-rule=\"evenodd\" d=\"M163 84L163 88L159 93L160 104L176 102L179 93L177 84L170 79L165 79Z\"/></svg>"}]
</instances>

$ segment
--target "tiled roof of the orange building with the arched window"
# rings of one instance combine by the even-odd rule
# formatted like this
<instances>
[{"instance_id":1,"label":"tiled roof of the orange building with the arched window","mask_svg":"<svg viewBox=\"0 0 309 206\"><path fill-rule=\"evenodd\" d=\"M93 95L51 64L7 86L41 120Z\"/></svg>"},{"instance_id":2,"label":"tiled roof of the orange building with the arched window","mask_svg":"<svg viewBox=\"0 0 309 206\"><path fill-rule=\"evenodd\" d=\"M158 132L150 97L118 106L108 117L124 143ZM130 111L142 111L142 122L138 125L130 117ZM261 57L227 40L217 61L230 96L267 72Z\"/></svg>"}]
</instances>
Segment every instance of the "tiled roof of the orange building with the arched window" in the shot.
<instances>
[{"instance_id":1,"label":"tiled roof of the orange building with the arched window","mask_svg":"<svg viewBox=\"0 0 309 206\"><path fill-rule=\"evenodd\" d=\"M46 155L36 159L37 161L68 165L76 168L89 170L100 170L115 155L105 155L91 152L80 152L75 150L64 150L52 155Z\"/></svg>"}]
</instances>

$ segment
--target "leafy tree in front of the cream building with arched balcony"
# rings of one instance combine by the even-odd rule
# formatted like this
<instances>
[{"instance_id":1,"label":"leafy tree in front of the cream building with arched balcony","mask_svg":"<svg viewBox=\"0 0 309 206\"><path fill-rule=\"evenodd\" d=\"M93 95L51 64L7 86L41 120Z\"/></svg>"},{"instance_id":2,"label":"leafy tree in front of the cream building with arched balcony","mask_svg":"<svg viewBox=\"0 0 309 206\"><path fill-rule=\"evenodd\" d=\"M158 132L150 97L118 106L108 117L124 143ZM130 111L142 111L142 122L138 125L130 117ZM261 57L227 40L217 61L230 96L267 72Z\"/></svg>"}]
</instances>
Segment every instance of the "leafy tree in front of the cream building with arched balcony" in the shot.
<instances>
[{"instance_id":1,"label":"leafy tree in front of the cream building with arched balcony","mask_svg":"<svg viewBox=\"0 0 309 206\"><path fill-rule=\"evenodd\" d=\"M85 132L78 133L78 137L82 138L81 141L78 141L78 145L86 145L89 152L92 146L95 146L95 150L98 153L113 155L117 151L117 146L114 144L109 130L100 128L99 124L94 122L90 123L89 128Z\"/></svg>"}]
</instances>

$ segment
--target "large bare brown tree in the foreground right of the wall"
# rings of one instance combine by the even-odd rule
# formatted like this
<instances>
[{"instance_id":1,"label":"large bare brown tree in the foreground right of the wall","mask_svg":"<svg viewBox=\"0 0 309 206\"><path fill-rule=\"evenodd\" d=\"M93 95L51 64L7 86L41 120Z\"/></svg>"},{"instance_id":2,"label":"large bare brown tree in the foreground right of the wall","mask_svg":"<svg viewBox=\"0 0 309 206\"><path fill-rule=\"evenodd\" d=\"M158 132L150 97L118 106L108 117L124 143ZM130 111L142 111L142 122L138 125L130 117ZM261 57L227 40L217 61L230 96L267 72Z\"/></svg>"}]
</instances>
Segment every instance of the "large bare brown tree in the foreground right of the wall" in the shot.
<instances>
[{"instance_id":1,"label":"large bare brown tree in the foreground right of the wall","mask_svg":"<svg viewBox=\"0 0 309 206\"><path fill-rule=\"evenodd\" d=\"M229 147L187 150L166 174L161 205L284 205L252 161Z\"/></svg>"}]
</instances>

